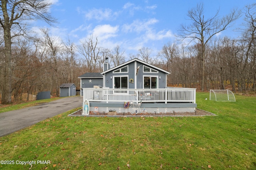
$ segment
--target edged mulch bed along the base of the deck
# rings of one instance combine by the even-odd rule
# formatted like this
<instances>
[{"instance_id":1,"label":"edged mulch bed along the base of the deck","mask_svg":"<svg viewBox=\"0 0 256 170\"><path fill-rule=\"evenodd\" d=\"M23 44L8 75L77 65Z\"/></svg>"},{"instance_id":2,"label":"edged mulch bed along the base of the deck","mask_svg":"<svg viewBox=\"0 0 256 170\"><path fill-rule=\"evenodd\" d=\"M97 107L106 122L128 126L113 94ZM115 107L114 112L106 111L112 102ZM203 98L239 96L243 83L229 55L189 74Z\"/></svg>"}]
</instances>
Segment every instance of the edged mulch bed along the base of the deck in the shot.
<instances>
[{"instance_id":1,"label":"edged mulch bed along the base of the deck","mask_svg":"<svg viewBox=\"0 0 256 170\"><path fill-rule=\"evenodd\" d=\"M131 114L131 113L116 113L116 112L93 112L90 111L89 115L82 115L83 110L80 109L70 116L205 116L205 115L215 115L208 111L204 111L201 109L196 109L195 112L174 112L174 113L138 113Z\"/></svg>"}]
</instances>

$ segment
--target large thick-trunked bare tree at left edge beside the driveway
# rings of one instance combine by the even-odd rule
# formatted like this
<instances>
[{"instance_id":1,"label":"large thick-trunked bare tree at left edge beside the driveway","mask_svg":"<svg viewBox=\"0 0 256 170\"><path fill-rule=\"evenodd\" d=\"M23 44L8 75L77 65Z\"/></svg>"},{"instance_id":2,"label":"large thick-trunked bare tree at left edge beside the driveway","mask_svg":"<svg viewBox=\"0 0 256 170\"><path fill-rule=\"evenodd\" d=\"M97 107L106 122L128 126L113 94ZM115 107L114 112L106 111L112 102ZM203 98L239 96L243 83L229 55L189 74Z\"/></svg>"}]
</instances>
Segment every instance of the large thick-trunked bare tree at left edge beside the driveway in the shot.
<instances>
[{"instance_id":1,"label":"large thick-trunked bare tree at left edge beside the driveway","mask_svg":"<svg viewBox=\"0 0 256 170\"><path fill-rule=\"evenodd\" d=\"M26 20L44 20L51 24L55 20L49 14L51 3L45 0L1 0L0 25L4 31L4 78L2 104L11 103L12 38L26 33Z\"/></svg>"}]
</instances>

